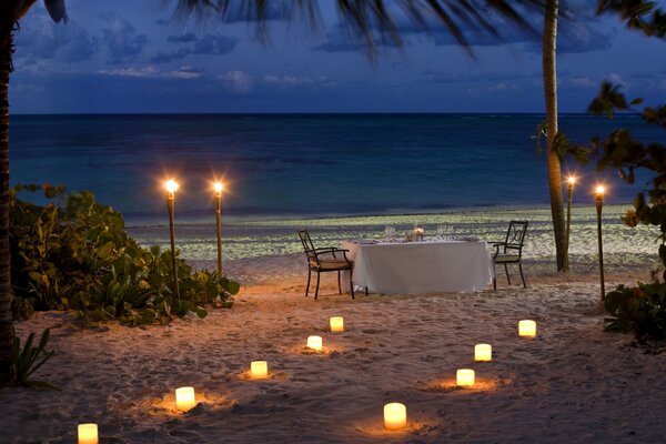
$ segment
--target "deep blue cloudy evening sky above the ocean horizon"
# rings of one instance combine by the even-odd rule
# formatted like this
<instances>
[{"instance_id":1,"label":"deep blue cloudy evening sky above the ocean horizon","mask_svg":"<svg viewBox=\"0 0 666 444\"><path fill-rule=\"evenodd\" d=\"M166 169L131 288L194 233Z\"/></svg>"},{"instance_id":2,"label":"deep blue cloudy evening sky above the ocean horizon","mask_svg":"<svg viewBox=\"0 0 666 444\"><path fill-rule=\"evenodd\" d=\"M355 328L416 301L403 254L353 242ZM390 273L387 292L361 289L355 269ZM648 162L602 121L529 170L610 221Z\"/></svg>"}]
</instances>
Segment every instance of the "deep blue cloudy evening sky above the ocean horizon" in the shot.
<instances>
[{"instance_id":1,"label":"deep blue cloudy evening sky above the ocean horizon","mask_svg":"<svg viewBox=\"0 0 666 444\"><path fill-rule=\"evenodd\" d=\"M666 101L666 43L595 17L596 1L575 3L576 19L561 27L561 111L584 112L604 79ZM52 23L40 1L17 34L11 111L543 111L538 44L506 24L508 43L470 36L476 60L443 30L405 27L404 50L383 48L373 67L325 8L315 36L272 10L262 46L243 20L176 21L162 0L68 0L68 24Z\"/></svg>"}]
</instances>

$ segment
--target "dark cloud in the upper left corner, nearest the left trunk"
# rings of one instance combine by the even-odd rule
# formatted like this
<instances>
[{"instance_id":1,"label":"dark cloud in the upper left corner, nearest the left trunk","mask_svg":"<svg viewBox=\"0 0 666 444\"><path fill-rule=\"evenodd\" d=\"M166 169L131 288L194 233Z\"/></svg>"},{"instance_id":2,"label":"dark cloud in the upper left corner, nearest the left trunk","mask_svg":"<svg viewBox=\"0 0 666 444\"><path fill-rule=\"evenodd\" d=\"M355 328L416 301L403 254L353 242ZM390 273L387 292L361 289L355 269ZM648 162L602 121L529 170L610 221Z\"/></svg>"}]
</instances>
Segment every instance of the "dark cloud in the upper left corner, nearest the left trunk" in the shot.
<instances>
[{"instance_id":1,"label":"dark cloud in the upper left corner, nearest the left trunk","mask_svg":"<svg viewBox=\"0 0 666 444\"><path fill-rule=\"evenodd\" d=\"M78 23L54 24L44 14L23 23L17 33L17 46L16 60L26 64L40 60L77 63L90 60L99 42Z\"/></svg>"}]
</instances>

